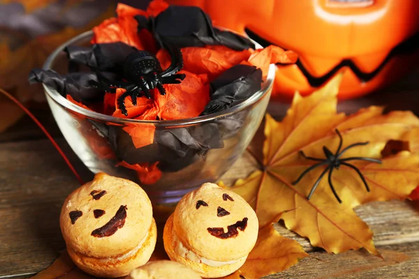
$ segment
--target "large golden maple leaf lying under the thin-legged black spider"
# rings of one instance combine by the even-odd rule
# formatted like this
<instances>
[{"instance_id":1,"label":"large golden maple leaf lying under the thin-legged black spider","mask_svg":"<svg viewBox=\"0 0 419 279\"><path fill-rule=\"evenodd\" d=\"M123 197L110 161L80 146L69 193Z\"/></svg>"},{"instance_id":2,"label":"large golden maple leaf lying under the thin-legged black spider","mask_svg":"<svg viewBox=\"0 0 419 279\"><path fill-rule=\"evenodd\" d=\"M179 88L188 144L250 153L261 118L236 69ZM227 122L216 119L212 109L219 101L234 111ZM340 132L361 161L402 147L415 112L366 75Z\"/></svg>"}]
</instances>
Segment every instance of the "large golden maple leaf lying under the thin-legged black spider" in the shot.
<instances>
[{"instance_id":1,"label":"large golden maple leaf lying under the thin-legged black spider","mask_svg":"<svg viewBox=\"0 0 419 279\"><path fill-rule=\"evenodd\" d=\"M292 185L307 167L314 165L299 151L317 158L325 158L323 146L335 152L339 145L335 129L343 136L342 148L356 142L369 142L348 150L341 158L379 159L388 140L399 140L412 128L419 127L419 119L411 112L383 115L382 107L369 107L349 116L337 114L340 80L341 75L338 75L306 98L295 94L281 122L266 116L262 170L238 181L232 190L253 206L262 226L278 213L295 209L284 213L281 219L288 229L309 238L311 245L335 253L364 247L378 255L372 231L353 208L366 202L406 199L419 183L417 154L403 151L384 158L382 164L351 161L365 176L370 193L353 169L343 165L335 169L332 182L342 204L332 194L327 177L323 177L313 197L306 198L324 167L312 170L300 183Z\"/></svg>"}]
</instances>

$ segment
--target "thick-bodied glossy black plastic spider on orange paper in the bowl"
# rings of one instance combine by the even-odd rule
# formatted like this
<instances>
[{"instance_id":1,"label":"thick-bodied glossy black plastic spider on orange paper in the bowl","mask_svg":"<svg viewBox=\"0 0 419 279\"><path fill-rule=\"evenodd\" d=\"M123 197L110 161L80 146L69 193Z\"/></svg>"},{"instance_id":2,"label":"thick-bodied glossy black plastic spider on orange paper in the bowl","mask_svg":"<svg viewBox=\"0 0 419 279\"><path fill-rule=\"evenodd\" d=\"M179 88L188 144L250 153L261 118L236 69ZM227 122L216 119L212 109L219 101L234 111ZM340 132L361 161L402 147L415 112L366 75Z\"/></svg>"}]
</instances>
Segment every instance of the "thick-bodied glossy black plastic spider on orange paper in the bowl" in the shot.
<instances>
[{"instance_id":1,"label":"thick-bodied glossy black plastic spider on orange paper in the bowl","mask_svg":"<svg viewBox=\"0 0 419 279\"><path fill-rule=\"evenodd\" d=\"M131 96L133 105L137 105L137 98L144 93L151 98L149 90L159 89L161 95L166 94L163 84L179 84L186 75L176 74L183 67L182 52L179 48L166 47L172 63L166 70L161 69L159 60L154 54L145 50L138 50L126 56L123 66L122 77L126 81L112 81L97 73L98 81L90 81L90 84L97 86L104 91L115 93L117 88L126 89L125 93L119 96L117 104L123 114L128 116L125 107L125 98Z\"/></svg>"}]
</instances>

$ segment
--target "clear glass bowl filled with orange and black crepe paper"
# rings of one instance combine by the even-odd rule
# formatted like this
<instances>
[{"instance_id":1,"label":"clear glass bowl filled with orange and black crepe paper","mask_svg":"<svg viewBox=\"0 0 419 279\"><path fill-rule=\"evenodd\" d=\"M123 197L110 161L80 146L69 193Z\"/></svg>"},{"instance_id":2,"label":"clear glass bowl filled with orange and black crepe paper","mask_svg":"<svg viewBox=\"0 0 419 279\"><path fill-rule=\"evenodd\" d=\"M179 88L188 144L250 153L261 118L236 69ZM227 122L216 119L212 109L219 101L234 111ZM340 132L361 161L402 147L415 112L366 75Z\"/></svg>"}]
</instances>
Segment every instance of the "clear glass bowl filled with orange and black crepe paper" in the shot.
<instances>
[{"instance_id":1,"label":"clear glass bowl filled with orange and black crepe paper","mask_svg":"<svg viewBox=\"0 0 419 279\"><path fill-rule=\"evenodd\" d=\"M89 45L91 31L57 48L44 70L65 74L68 45ZM251 98L222 112L175 121L122 119L75 105L50 87L43 86L55 121L73 151L91 172L105 172L139 183L154 204L172 204L205 182L216 182L251 142L263 119L275 75L270 65L262 89ZM154 143L135 149L129 129L154 130ZM163 143L163 144L162 144ZM149 164L158 170L145 176L122 166ZM142 165L144 167L144 165ZM135 167L134 167L135 168Z\"/></svg>"}]
</instances>

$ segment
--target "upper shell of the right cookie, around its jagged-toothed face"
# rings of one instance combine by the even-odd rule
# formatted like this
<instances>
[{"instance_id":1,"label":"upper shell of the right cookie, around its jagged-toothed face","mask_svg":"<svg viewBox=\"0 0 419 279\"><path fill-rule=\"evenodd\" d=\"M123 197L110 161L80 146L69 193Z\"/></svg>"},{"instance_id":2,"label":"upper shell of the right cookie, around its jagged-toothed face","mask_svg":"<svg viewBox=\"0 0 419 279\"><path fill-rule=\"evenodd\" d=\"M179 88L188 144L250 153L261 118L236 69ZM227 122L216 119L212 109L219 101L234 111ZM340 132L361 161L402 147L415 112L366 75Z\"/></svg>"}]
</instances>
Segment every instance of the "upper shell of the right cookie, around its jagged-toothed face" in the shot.
<instances>
[{"instance_id":1,"label":"upper shell of the right cookie, around its jagged-toothed face","mask_svg":"<svg viewBox=\"0 0 419 279\"><path fill-rule=\"evenodd\" d=\"M230 200L224 195L228 195ZM224 196L223 196L224 195ZM197 209L197 202L203 201ZM228 215L217 216L219 207ZM219 262L240 259L249 254L258 237L258 218L251 206L240 195L213 183L205 183L197 190L186 194L177 204L173 213L173 226L177 237L184 246L201 257ZM223 214L221 214L223 215ZM219 238L209 232L209 228L235 225L247 218L247 226L229 238Z\"/></svg>"}]
</instances>

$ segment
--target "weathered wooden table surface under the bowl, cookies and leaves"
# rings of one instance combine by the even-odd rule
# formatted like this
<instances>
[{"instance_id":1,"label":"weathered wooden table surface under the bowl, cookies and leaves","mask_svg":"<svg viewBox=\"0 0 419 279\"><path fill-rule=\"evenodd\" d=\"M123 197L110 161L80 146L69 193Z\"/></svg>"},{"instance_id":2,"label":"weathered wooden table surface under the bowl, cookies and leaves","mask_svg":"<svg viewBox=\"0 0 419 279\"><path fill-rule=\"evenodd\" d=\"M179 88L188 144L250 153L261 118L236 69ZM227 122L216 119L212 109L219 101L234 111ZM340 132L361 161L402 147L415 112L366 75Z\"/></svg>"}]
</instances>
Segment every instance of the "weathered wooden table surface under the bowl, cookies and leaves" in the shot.
<instances>
[{"instance_id":1,"label":"weathered wooden table surface under the bowl, cookies and leaves","mask_svg":"<svg viewBox=\"0 0 419 279\"><path fill-rule=\"evenodd\" d=\"M355 112L369 105L387 105L390 110L413 110L419 115L418 77L419 70L385 90L342 102L339 110ZM272 103L269 110L281 118L287 107ZM84 181L89 181L93 174L62 138L49 110L36 110L36 114ZM232 183L246 176L253 164L253 158L244 154L223 181ZM0 278L29 278L49 266L65 248L59 212L65 197L77 186L57 151L28 117L0 134ZM269 278L419 278L419 203L374 202L356 211L372 228L384 260L365 250L330 255L279 225L281 234L297 239L312 257Z\"/></svg>"}]
</instances>

